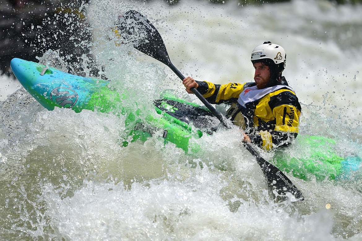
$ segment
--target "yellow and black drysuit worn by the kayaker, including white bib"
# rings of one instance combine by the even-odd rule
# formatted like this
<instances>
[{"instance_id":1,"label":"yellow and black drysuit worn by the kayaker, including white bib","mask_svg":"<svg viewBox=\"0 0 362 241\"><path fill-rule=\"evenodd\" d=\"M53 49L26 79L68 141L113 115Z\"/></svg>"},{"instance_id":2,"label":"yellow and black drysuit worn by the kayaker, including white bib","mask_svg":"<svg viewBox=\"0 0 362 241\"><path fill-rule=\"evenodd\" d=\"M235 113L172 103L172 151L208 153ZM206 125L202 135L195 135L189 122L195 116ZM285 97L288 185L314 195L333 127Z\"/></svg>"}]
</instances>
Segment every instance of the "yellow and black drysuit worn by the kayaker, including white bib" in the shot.
<instances>
[{"instance_id":1,"label":"yellow and black drysuit worn by the kayaker, including white bib","mask_svg":"<svg viewBox=\"0 0 362 241\"><path fill-rule=\"evenodd\" d=\"M252 143L266 150L296 138L301 112L294 90L284 77L258 89L256 83L216 85L197 81L197 90L212 104L229 103L227 117L244 129Z\"/></svg>"}]
</instances>

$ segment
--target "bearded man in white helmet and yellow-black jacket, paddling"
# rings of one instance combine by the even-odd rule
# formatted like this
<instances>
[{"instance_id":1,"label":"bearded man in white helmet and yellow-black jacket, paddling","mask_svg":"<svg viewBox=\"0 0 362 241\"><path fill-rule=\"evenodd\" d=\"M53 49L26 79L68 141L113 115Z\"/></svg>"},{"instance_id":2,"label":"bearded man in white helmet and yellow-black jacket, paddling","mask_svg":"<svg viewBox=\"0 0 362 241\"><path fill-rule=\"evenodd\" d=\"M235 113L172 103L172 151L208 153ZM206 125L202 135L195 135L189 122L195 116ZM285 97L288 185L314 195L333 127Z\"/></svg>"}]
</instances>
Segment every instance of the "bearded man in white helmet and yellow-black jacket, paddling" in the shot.
<instances>
[{"instance_id":1,"label":"bearded man in white helmet and yellow-black jacket, paddling","mask_svg":"<svg viewBox=\"0 0 362 241\"><path fill-rule=\"evenodd\" d=\"M289 145L298 135L301 107L282 76L285 50L264 42L254 48L251 62L255 82L217 85L187 77L182 83L189 94L195 87L212 104L231 104L226 117L244 130L244 142L266 150Z\"/></svg>"}]
</instances>

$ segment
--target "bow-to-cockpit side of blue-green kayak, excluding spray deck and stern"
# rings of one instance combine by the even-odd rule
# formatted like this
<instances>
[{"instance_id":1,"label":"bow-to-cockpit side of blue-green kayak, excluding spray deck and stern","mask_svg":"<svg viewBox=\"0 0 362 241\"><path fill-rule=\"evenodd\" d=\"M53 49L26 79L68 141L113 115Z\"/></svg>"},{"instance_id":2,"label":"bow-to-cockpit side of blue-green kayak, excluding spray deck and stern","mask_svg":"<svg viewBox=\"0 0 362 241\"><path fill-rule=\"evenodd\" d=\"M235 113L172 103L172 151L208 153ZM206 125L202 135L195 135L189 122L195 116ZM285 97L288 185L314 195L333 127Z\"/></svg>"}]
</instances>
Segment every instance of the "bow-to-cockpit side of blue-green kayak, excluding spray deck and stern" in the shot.
<instances>
[{"instance_id":1,"label":"bow-to-cockpit side of blue-green kayak, excluding spray deck and stern","mask_svg":"<svg viewBox=\"0 0 362 241\"><path fill-rule=\"evenodd\" d=\"M159 106L155 106L156 112L161 117L155 115L140 117L135 114L137 111L128 111L122 106L123 97L117 90L109 88L110 81L76 76L18 58L12 59L10 66L21 85L47 110L60 107L72 109L77 113L82 110L96 110L102 113L121 114L126 117L126 132L131 136L131 142L145 141L156 131L160 131L165 144L174 143L176 147L186 152L189 149L192 152L201 149L190 146L189 139L200 138L202 131L165 112L172 107L167 104L168 101L172 101L171 99L160 100ZM123 145L127 144L128 141L123 141Z\"/></svg>"}]
</instances>

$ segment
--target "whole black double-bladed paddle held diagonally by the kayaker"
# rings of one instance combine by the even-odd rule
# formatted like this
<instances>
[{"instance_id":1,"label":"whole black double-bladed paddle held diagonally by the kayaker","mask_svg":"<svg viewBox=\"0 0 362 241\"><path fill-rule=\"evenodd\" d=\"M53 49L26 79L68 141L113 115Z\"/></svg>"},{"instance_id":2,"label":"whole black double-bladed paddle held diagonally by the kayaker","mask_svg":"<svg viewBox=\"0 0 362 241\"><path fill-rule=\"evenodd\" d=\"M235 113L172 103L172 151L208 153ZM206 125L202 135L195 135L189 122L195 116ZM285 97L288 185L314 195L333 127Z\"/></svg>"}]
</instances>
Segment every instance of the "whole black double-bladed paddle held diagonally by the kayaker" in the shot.
<instances>
[{"instance_id":1,"label":"whole black double-bladed paddle held diagonally by the kayaker","mask_svg":"<svg viewBox=\"0 0 362 241\"><path fill-rule=\"evenodd\" d=\"M123 43L131 42L134 48L167 65L181 80L185 79L180 71L178 71L178 69L171 63L160 33L151 24L151 22L139 12L129 10L122 16L119 16L114 32L123 41ZM200 94L200 92L198 92L197 89L191 88L191 91L226 128L231 128L230 124L226 122L225 117L216 111L216 109L205 99L205 97L202 96L202 94ZM298 190L298 188L296 188L296 186L294 186L290 179L281 172L281 170L262 158L253 148L251 143L244 143L244 145L246 149L254 157L256 157L266 181L268 182L270 191L274 194L276 192L278 195L282 196L287 193L291 193L294 195L296 200L304 200L302 193Z\"/></svg>"}]
</instances>

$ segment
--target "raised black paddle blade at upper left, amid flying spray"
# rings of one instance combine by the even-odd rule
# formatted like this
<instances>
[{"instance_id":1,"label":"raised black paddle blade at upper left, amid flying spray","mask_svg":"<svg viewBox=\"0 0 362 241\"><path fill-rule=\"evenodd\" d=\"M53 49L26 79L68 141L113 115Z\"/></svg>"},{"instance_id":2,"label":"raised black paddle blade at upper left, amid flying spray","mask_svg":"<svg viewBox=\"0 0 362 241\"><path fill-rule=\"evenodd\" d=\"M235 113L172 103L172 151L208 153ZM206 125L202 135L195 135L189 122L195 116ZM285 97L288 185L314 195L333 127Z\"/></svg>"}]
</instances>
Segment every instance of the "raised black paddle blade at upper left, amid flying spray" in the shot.
<instances>
[{"instance_id":1,"label":"raised black paddle blade at upper left, amid flying spray","mask_svg":"<svg viewBox=\"0 0 362 241\"><path fill-rule=\"evenodd\" d=\"M171 64L160 33L139 12L129 10L119 16L114 32L122 43L132 43L137 50L144 54L168 66Z\"/></svg>"}]
</instances>

